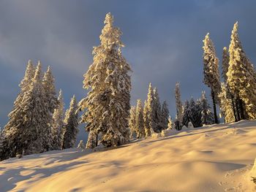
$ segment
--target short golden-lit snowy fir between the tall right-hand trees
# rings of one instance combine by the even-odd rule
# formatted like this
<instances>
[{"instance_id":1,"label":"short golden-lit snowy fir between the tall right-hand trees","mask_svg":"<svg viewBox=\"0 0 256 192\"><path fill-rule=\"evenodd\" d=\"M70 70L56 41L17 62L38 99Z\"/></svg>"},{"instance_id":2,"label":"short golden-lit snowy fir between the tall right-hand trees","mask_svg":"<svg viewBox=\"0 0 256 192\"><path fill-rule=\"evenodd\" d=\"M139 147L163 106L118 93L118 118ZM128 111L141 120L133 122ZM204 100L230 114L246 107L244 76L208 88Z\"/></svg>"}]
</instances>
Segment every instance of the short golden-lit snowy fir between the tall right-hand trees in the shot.
<instances>
[{"instance_id":1,"label":"short golden-lit snowy fir between the tall right-hand trees","mask_svg":"<svg viewBox=\"0 0 256 192\"><path fill-rule=\"evenodd\" d=\"M222 82L222 92L219 93L220 107L224 114L225 123L235 122L235 115L232 107L230 94L228 93L227 86Z\"/></svg>"}]
</instances>

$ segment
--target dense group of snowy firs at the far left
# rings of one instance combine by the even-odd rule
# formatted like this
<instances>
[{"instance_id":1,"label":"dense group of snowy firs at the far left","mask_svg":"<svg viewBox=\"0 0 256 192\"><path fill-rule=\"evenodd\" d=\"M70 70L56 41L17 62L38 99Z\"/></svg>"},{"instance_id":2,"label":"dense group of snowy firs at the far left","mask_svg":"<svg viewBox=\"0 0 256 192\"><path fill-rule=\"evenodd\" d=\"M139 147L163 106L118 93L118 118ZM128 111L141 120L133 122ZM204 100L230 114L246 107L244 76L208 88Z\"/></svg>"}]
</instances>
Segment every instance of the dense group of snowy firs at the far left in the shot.
<instances>
[{"instance_id":1,"label":"dense group of snowy firs at the far left","mask_svg":"<svg viewBox=\"0 0 256 192\"><path fill-rule=\"evenodd\" d=\"M48 66L29 61L20 82L20 93L0 133L0 160L73 147L78 133L77 103L73 96L64 118L62 92L56 95L54 77Z\"/></svg>"}]
</instances>

